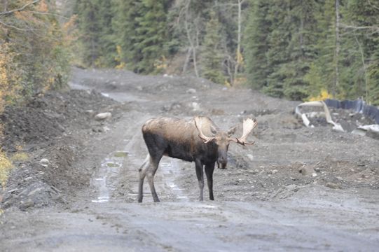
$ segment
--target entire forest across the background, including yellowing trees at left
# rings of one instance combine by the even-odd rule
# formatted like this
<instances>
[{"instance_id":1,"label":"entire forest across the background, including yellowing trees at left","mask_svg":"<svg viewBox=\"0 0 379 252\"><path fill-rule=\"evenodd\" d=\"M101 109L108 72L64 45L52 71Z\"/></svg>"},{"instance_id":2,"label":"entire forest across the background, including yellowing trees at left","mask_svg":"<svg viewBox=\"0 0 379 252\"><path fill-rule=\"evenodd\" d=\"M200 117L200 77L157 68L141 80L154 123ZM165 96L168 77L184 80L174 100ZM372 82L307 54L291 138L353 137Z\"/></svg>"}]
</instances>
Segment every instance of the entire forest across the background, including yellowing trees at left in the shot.
<instances>
[{"instance_id":1,"label":"entire forest across the background, including yellowing trees at left","mask_svg":"<svg viewBox=\"0 0 379 252\"><path fill-rule=\"evenodd\" d=\"M378 0L1 0L0 107L72 65L379 104Z\"/></svg>"}]
</instances>

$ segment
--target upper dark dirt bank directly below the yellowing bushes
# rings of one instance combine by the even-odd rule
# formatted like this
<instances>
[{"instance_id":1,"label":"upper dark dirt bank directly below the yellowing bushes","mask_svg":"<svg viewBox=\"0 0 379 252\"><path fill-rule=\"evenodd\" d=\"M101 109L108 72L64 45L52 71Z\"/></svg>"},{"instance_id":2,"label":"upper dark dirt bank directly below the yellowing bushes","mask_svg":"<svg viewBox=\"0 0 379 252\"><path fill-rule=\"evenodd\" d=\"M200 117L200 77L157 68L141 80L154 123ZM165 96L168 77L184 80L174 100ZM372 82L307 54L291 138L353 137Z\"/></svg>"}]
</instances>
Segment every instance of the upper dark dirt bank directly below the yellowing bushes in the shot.
<instances>
[{"instance_id":1,"label":"upper dark dirt bank directly below the yellowing bushes","mask_svg":"<svg viewBox=\"0 0 379 252\"><path fill-rule=\"evenodd\" d=\"M33 97L24 106L6 108L0 116L4 123L3 147L12 152L18 146L48 144L57 137L71 134L72 129L95 126L98 123L90 120L93 113L106 111L114 104L116 102L98 92L78 90Z\"/></svg>"}]
</instances>

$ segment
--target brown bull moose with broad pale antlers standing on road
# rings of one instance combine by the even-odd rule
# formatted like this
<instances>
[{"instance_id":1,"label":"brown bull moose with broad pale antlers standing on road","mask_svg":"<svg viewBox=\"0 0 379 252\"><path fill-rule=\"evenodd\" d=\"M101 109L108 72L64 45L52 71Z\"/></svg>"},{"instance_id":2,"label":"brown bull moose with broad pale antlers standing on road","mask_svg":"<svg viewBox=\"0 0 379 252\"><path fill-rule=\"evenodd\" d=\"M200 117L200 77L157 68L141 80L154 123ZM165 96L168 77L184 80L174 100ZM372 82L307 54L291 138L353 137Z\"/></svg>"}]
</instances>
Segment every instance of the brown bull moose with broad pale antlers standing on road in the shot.
<instances>
[{"instance_id":1,"label":"brown bull moose with broad pale antlers standing on road","mask_svg":"<svg viewBox=\"0 0 379 252\"><path fill-rule=\"evenodd\" d=\"M139 168L138 202L142 202L145 176L147 176L154 202L160 202L153 179L163 155L195 162L196 176L198 177L200 188L200 201L203 200L203 170L205 170L209 200L214 200L213 172L216 163L220 169L226 169L230 142L235 142L242 146L254 144L254 142L247 142L247 136L256 125L255 118L244 120L242 137L237 138L231 137L235 133L236 126L230 128L227 132L223 132L210 118L205 116L196 116L191 120L178 118L147 120L142 126L142 134L149 154Z\"/></svg>"}]
</instances>

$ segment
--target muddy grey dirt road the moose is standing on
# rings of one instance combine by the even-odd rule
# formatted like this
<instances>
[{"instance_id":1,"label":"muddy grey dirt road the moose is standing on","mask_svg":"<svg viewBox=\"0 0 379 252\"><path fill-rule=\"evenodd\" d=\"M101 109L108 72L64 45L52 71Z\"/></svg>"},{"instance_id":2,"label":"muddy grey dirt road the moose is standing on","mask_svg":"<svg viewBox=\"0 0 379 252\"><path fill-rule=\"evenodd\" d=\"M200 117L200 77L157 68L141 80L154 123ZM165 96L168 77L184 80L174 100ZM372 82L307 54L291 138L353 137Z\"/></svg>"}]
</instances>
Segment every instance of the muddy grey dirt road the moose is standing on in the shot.
<instances>
[{"instance_id":1,"label":"muddy grey dirt road the moose is standing on","mask_svg":"<svg viewBox=\"0 0 379 252\"><path fill-rule=\"evenodd\" d=\"M75 176L49 177L69 178L67 187L45 181L61 186L60 201L6 208L0 251L377 251L378 140L305 128L297 102L198 78L74 69L71 86L120 102L104 110L113 120L78 130L80 155L66 166ZM144 121L198 114L223 129L256 117L256 144L230 146L228 169L214 174L214 202L207 190L198 202L193 163L163 158L155 179L162 202L145 183L137 204Z\"/></svg>"}]
</instances>

